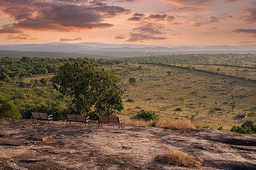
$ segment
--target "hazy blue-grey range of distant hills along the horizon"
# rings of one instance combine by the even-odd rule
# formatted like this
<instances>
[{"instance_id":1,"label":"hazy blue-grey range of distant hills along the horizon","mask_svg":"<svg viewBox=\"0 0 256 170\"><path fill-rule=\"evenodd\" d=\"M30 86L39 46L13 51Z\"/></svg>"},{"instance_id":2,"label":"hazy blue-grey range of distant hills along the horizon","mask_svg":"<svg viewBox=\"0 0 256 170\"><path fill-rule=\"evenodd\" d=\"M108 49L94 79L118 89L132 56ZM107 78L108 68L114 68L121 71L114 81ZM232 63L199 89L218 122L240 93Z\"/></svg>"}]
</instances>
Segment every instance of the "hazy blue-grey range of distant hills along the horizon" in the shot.
<instances>
[{"instance_id":1,"label":"hazy blue-grey range of distant hills along the horizon","mask_svg":"<svg viewBox=\"0 0 256 170\"><path fill-rule=\"evenodd\" d=\"M134 45L134 44L104 44L98 42L50 42L45 44L9 44L0 45L0 50L19 50L19 51L42 51L42 52L238 52L255 51L256 45Z\"/></svg>"}]
</instances>

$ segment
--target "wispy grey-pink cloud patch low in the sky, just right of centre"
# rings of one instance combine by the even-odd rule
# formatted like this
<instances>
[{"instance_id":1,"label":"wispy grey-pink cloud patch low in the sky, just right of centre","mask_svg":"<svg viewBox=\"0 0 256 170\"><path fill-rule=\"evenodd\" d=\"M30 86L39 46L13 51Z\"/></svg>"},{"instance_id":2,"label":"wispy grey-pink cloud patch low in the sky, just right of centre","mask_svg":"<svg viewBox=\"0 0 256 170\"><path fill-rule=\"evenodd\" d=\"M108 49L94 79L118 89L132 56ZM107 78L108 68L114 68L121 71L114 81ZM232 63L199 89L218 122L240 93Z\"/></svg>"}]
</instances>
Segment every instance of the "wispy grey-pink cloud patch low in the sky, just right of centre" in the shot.
<instances>
[{"instance_id":1,"label":"wispy grey-pink cloud patch low in the sky, just right of centre","mask_svg":"<svg viewBox=\"0 0 256 170\"><path fill-rule=\"evenodd\" d=\"M127 42L143 41L143 40L165 40L167 37L159 37L165 33L164 26L155 23L142 23L139 27L134 28L130 33L130 39Z\"/></svg>"}]
</instances>

